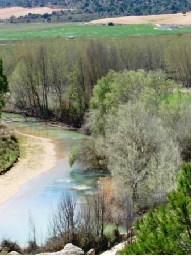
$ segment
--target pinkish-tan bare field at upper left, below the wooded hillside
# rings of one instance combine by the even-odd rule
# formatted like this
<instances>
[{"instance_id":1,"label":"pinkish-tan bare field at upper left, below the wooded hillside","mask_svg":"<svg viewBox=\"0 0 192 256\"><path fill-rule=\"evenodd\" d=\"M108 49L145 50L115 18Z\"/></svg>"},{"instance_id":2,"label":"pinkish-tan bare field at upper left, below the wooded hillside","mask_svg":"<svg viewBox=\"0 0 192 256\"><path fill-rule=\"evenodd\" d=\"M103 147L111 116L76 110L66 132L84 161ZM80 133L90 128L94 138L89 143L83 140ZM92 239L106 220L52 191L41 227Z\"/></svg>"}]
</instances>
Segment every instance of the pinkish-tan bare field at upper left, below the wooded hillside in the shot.
<instances>
[{"instance_id":1,"label":"pinkish-tan bare field at upper left, below the wooded hillside","mask_svg":"<svg viewBox=\"0 0 192 256\"><path fill-rule=\"evenodd\" d=\"M9 7L9 8L0 8L0 19L8 19L11 16L19 17L24 16L28 13L35 14L44 14L52 13L52 11L60 11L64 9L53 9L49 7L32 7L32 8L23 8L23 7Z\"/></svg>"}]
</instances>

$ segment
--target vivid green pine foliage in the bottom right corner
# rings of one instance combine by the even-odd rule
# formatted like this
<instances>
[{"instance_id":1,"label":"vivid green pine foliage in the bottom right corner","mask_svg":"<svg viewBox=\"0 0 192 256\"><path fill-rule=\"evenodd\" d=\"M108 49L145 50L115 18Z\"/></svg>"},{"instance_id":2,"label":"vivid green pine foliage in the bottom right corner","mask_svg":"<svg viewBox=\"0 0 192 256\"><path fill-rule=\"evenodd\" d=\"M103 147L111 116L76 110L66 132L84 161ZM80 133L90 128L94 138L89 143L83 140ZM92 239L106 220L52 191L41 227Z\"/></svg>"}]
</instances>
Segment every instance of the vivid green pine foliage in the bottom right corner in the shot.
<instances>
[{"instance_id":1,"label":"vivid green pine foliage in the bottom right corner","mask_svg":"<svg viewBox=\"0 0 192 256\"><path fill-rule=\"evenodd\" d=\"M190 254L191 167L178 172L168 203L149 210L135 225L136 242L120 254Z\"/></svg>"}]
</instances>

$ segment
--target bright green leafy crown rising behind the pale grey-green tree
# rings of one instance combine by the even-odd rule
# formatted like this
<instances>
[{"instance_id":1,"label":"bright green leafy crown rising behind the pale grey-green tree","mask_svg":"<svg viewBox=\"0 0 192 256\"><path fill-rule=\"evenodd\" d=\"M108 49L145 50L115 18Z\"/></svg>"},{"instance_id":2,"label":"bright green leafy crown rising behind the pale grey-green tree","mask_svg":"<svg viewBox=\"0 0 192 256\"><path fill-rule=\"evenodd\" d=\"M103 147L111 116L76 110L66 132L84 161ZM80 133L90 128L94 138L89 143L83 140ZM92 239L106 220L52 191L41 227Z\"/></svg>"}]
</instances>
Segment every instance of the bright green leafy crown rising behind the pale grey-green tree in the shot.
<instances>
[{"instance_id":1,"label":"bright green leafy crown rising behind the pale grey-green tree","mask_svg":"<svg viewBox=\"0 0 192 256\"><path fill-rule=\"evenodd\" d=\"M170 95L173 83L162 71L110 71L93 88L90 106L93 111L91 130L104 134L107 114L115 114L120 104L135 102L139 98L149 111L157 112L162 101Z\"/></svg>"}]
</instances>

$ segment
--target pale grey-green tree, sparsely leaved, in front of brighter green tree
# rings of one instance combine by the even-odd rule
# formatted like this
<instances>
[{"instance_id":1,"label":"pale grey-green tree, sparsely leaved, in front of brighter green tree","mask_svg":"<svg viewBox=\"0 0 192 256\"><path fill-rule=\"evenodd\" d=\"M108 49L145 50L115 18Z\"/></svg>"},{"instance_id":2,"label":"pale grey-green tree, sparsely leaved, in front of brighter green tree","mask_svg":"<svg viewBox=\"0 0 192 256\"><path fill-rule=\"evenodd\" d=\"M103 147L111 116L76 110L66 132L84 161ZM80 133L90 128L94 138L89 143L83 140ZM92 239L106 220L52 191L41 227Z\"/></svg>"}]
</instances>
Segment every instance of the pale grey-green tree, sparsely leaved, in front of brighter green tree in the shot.
<instances>
[{"instance_id":1,"label":"pale grey-green tree, sparsely leaved, in front of brighter green tree","mask_svg":"<svg viewBox=\"0 0 192 256\"><path fill-rule=\"evenodd\" d=\"M98 152L106 155L115 180L116 197L121 200L122 193L129 193L139 208L166 201L180 166L178 144L161 123L142 102L128 103L107 116L105 138L97 138Z\"/></svg>"}]
</instances>

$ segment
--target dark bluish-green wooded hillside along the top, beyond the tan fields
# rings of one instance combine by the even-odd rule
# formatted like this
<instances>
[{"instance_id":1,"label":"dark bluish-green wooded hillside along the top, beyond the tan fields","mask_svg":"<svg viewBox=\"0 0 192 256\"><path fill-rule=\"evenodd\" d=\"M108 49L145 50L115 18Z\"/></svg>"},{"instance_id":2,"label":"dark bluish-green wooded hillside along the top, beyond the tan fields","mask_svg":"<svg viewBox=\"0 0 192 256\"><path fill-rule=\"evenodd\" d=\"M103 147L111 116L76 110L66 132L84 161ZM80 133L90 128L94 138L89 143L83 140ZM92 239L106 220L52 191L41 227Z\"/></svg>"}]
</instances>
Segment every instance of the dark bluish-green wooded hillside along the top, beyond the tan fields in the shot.
<instances>
[{"instance_id":1,"label":"dark bluish-green wooded hillside along the top, beyond the tan fields","mask_svg":"<svg viewBox=\"0 0 192 256\"><path fill-rule=\"evenodd\" d=\"M166 13L185 13L190 11L189 0L0 0L0 6L53 6L65 9L73 9L69 14L62 13L64 20L82 21L93 18L106 18L106 16L131 16L131 15L151 15ZM70 18L69 18L70 17Z\"/></svg>"}]
</instances>

